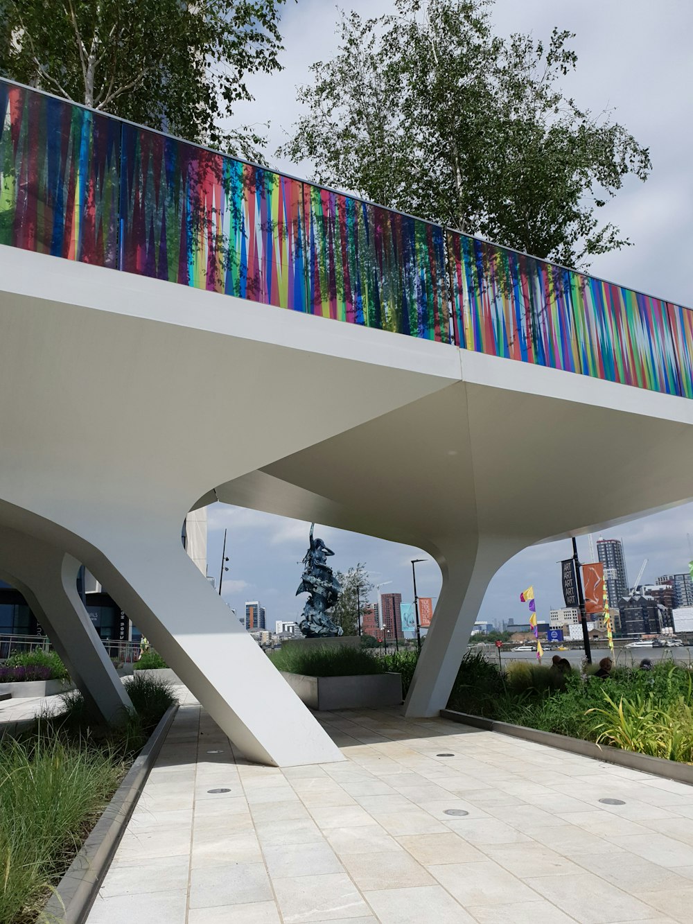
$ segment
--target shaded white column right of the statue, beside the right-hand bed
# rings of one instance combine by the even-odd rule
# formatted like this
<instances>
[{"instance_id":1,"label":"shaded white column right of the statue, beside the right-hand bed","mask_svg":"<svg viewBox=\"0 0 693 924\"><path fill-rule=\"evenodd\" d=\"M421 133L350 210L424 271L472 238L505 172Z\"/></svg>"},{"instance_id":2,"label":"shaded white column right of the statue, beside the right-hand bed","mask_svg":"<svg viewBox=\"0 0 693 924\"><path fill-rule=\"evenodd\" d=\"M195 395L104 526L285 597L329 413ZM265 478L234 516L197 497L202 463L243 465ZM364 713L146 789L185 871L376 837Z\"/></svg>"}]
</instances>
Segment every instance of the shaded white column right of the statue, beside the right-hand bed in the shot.
<instances>
[{"instance_id":1,"label":"shaded white column right of the statue, beside the right-hand bed","mask_svg":"<svg viewBox=\"0 0 693 924\"><path fill-rule=\"evenodd\" d=\"M443 586L407 694L407 716L437 715L445 708L491 578L529 543L483 538L445 550L439 559Z\"/></svg>"}]
</instances>

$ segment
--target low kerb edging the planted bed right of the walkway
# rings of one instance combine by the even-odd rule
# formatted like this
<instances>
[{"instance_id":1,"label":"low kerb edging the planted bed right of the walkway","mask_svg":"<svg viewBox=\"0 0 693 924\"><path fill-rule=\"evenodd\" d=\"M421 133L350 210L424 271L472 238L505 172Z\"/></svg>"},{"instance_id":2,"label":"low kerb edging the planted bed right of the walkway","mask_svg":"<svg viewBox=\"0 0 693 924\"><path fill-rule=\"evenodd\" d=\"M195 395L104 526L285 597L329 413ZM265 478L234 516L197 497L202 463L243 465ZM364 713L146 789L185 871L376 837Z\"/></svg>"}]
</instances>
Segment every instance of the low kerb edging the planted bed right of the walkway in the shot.
<instances>
[{"instance_id":1,"label":"low kerb edging the planted bed right of the walkway","mask_svg":"<svg viewBox=\"0 0 693 924\"><path fill-rule=\"evenodd\" d=\"M468 715L467 712L456 712L452 709L442 709L441 717L481 728L486 732L498 732L514 738L524 738L549 748L570 751L572 754L581 754L592 760L601 760L602 763L614 763L629 770L639 770L651 773L652 776L661 776L665 780L675 780L677 783L693 785L693 765L677 763L675 760L664 760L659 757L650 757L648 754L638 754L635 751L612 748L609 745L597 745L593 741L583 741L581 738L570 738L565 735L555 735L553 732L541 732L537 728L525 728L523 725L511 725L507 722L496 722L493 719L484 719L480 715Z\"/></svg>"}]
</instances>

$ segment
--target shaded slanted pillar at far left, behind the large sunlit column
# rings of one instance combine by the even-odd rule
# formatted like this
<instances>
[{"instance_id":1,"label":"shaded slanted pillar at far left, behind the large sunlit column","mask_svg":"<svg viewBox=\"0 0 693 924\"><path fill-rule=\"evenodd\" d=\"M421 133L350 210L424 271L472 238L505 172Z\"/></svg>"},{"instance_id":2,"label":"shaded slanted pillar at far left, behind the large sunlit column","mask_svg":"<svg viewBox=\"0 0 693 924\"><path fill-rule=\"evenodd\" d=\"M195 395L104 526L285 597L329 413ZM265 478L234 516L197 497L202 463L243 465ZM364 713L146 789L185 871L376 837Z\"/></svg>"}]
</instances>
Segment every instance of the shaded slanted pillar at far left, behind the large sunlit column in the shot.
<instances>
[{"instance_id":1,"label":"shaded slanted pillar at far left, behind the large sunlit column","mask_svg":"<svg viewBox=\"0 0 693 924\"><path fill-rule=\"evenodd\" d=\"M113 722L132 703L79 597L79 567L55 546L0 529L0 575L24 595L88 709Z\"/></svg>"}]
</instances>

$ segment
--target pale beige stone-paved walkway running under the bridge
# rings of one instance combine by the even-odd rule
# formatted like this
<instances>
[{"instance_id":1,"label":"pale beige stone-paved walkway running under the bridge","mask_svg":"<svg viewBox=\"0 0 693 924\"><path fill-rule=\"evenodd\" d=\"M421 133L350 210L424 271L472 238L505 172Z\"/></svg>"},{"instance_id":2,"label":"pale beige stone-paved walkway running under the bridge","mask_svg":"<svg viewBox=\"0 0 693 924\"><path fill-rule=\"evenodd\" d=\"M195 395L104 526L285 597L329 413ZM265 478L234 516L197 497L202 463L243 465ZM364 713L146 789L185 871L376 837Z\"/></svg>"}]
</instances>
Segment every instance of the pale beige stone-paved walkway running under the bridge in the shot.
<instances>
[{"instance_id":1,"label":"pale beige stone-paved walkway running under the bridge","mask_svg":"<svg viewBox=\"0 0 693 924\"><path fill-rule=\"evenodd\" d=\"M261 767L184 691L89 924L691 920L693 787L396 710L318 717L343 763Z\"/></svg>"}]
</instances>

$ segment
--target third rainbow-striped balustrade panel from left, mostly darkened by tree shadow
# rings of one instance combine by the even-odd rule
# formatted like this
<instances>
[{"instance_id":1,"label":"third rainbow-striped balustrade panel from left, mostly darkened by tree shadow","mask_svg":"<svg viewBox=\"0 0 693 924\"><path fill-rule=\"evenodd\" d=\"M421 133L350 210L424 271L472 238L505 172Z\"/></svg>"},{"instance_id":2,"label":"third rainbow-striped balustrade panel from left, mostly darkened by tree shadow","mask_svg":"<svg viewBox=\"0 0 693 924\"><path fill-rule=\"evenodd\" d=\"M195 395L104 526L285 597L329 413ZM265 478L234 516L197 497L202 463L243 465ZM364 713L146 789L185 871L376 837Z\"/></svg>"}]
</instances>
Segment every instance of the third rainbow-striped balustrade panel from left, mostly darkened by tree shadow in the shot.
<instances>
[{"instance_id":1,"label":"third rainbow-striped balustrade panel from left, mostly darkened by tree shadow","mask_svg":"<svg viewBox=\"0 0 693 924\"><path fill-rule=\"evenodd\" d=\"M308 183L303 221L310 313L450 342L441 227Z\"/></svg>"}]
</instances>

